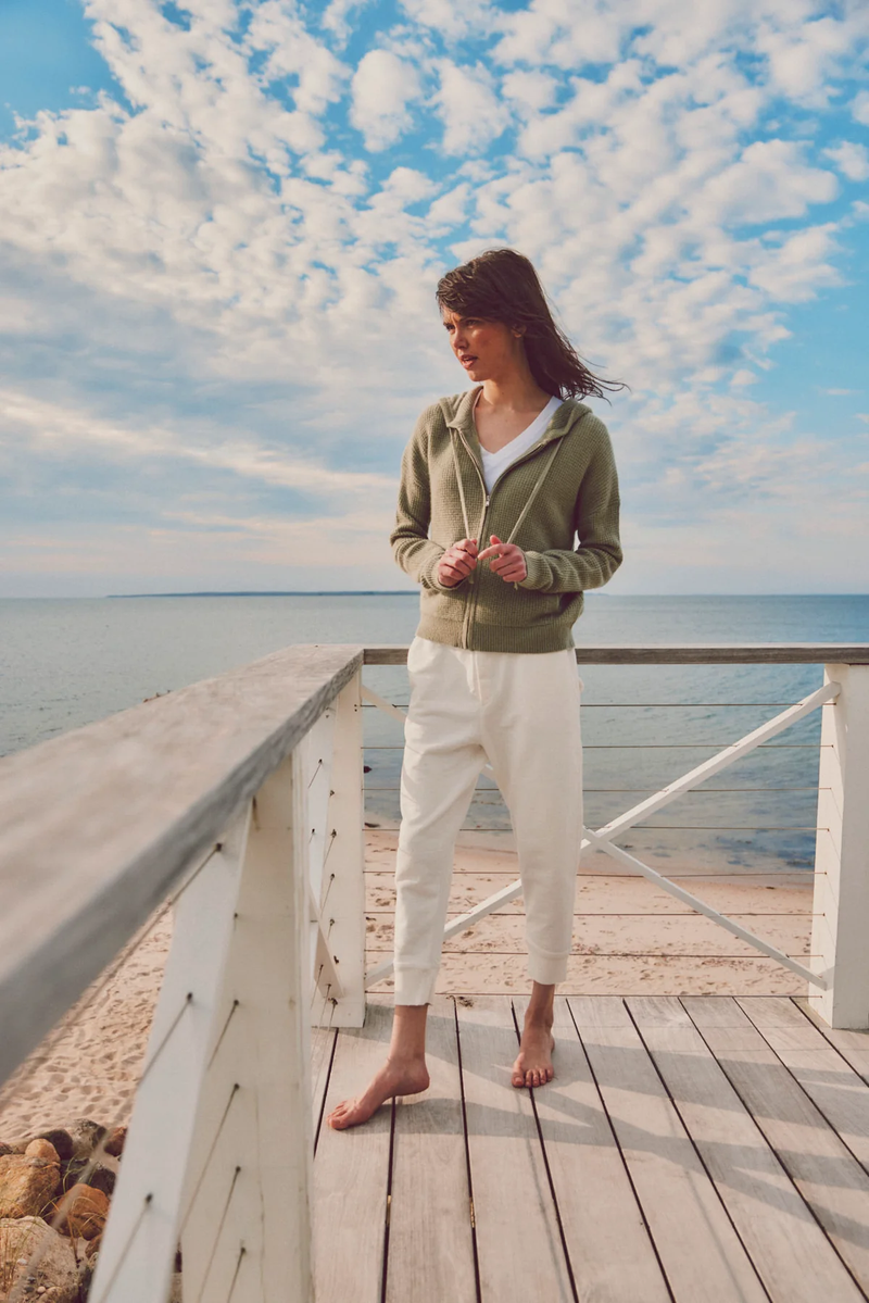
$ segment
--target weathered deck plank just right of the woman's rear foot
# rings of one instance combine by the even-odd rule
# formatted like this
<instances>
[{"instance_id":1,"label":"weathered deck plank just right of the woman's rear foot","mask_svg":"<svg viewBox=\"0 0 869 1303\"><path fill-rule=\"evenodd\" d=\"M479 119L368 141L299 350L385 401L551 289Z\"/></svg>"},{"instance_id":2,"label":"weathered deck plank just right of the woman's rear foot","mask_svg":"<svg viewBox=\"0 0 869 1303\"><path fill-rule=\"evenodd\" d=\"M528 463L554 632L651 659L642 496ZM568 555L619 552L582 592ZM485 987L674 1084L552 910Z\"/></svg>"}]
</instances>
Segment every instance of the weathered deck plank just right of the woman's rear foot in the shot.
<instances>
[{"instance_id":1,"label":"weathered deck plank just right of the woman's rear foot","mask_svg":"<svg viewBox=\"0 0 869 1303\"><path fill-rule=\"evenodd\" d=\"M526 1001L516 1002L520 1027ZM534 1092L567 1251L581 1299L667 1303L621 1153L567 1001L555 1002L556 1076Z\"/></svg>"}]
</instances>

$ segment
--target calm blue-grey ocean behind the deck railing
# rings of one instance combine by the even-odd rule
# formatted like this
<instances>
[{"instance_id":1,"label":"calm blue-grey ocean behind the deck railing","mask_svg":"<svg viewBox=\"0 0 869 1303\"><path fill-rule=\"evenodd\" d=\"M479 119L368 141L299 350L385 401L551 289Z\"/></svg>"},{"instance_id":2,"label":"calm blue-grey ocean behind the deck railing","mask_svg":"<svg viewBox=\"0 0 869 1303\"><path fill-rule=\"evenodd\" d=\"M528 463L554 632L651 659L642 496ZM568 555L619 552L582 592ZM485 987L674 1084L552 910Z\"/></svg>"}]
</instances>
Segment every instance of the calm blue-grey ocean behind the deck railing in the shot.
<instances>
[{"instance_id":1,"label":"calm blue-grey ocean behind the deck railing","mask_svg":"<svg viewBox=\"0 0 869 1303\"><path fill-rule=\"evenodd\" d=\"M416 593L0 601L0 754L296 642L409 642ZM869 642L869 595L586 594L577 644ZM582 666L585 821L598 827L822 681L822 666ZM404 668L366 681L406 704ZM397 823L401 727L367 710L366 821ZM819 713L619 839L640 857L809 870ZM481 779L465 826L508 816Z\"/></svg>"}]
</instances>

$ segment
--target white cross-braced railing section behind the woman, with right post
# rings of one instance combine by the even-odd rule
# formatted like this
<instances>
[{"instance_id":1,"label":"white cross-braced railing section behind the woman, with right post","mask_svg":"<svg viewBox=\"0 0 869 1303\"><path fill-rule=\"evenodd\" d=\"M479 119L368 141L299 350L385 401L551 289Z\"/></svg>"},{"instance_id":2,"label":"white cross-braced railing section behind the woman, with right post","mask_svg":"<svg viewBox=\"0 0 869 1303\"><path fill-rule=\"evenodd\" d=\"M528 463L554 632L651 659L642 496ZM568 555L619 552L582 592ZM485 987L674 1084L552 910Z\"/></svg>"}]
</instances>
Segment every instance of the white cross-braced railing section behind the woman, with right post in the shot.
<instances>
[{"instance_id":1,"label":"white cross-braced railing section behind the woman, with right post","mask_svg":"<svg viewBox=\"0 0 869 1303\"><path fill-rule=\"evenodd\" d=\"M829 663L836 655L836 663ZM366 665L395 665L406 659L400 648L367 648ZM659 646L580 648L580 665L795 665L826 663L823 685L752 730L710 760L704 761L661 791L646 797L597 830L585 829L582 848L610 855L624 868L650 880L731 936L753 946L800 977L809 999L833 1027L869 1027L869 648L865 645L760 645L760 646ZM848 663L851 662L851 663ZM369 687L362 697L386 714L404 719L404 713ZM818 831L816 846L814 909L810 967L784 954L762 937L714 909L705 900L658 873L615 844L615 838L640 820L657 813L701 783L743 760L821 706L821 774L818 779ZM491 774L490 766L485 766ZM847 773L847 779L846 779ZM519 880L495 891L473 909L452 919L444 941L479 923L522 893ZM843 908L844 906L844 908ZM390 976L387 959L366 973L374 985ZM838 980L836 980L838 973Z\"/></svg>"}]
</instances>

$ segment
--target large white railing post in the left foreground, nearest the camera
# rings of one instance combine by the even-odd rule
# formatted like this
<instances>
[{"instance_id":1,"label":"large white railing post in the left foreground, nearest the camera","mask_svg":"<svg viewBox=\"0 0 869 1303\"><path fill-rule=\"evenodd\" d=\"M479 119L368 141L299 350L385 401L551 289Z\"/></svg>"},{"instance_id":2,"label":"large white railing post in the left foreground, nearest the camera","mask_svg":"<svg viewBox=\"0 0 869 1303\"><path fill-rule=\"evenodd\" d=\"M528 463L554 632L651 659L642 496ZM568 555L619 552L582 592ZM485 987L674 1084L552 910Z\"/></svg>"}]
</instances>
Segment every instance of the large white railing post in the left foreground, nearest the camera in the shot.
<instances>
[{"instance_id":1,"label":"large white railing post in the left foreground, nearest the camera","mask_svg":"<svg viewBox=\"0 0 869 1303\"><path fill-rule=\"evenodd\" d=\"M162 1303L178 1237L185 1298L313 1299L306 795L297 747L178 900L100 1303Z\"/></svg>"}]
</instances>

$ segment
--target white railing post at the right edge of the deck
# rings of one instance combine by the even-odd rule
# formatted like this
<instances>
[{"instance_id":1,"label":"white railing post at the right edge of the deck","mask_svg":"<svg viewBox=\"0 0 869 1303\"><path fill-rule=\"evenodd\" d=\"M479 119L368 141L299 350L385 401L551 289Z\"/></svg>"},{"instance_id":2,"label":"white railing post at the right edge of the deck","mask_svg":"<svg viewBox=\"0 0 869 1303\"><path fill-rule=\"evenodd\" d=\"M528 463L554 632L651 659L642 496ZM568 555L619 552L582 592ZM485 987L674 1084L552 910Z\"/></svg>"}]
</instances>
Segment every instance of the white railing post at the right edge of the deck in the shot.
<instances>
[{"instance_id":1,"label":"white railing post at the right edge of the deck","mask_svg":"<svg viewBox=\"0 0 869 1303\"><path fill-rule=\"evenodd\" d=\"M827 665L818 770L812 1007L830 1024L869 1028L869 665Z\"/></svg>"}]
</instances>

